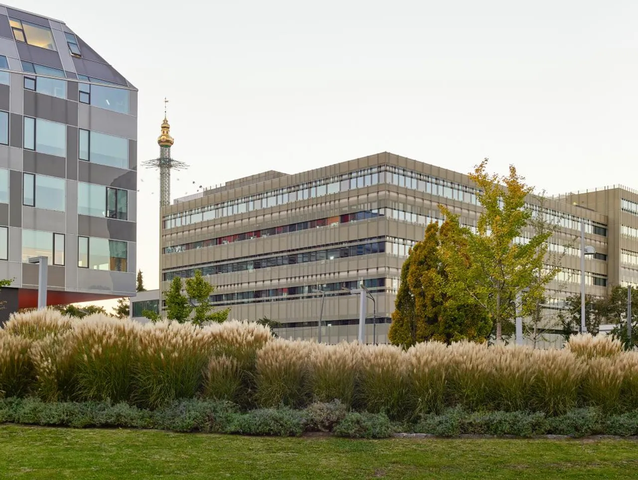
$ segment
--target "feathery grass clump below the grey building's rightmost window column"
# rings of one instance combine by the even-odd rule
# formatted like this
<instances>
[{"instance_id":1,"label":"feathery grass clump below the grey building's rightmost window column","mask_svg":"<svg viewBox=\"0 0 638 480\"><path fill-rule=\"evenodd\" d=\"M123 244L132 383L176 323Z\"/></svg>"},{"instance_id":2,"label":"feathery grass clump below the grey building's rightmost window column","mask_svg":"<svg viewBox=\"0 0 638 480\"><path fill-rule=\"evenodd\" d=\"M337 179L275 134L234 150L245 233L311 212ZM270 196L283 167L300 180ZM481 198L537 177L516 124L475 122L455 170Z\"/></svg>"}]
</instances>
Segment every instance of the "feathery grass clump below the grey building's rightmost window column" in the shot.
<instances>
[{"instance_id":1,"label":"feathery grass clump below the grey building's rightmost window column","mask_svg":"<svg viewBox=\"0 0 638 480\"><path fill-rule=\"evenodd\" d=\"M73 329L77 396L80 400L128 401L140 324L101 313L88 315Z\"/></svg>"}]
</instances>

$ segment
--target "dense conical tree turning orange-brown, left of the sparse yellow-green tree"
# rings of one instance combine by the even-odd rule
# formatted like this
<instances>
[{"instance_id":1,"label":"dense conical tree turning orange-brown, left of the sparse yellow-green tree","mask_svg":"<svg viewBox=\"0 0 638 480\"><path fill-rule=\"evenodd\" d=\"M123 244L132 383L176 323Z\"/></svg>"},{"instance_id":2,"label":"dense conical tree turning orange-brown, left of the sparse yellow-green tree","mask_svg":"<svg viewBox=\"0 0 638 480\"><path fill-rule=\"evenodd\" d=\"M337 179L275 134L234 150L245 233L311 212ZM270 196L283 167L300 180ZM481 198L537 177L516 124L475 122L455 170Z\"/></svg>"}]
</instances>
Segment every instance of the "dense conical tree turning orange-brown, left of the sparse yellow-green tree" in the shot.
<instances>
[{"instance_id":1,"label":"dense conical tree turning orange-brown, left of the sparse yellow-green tree","mask_svg":"<svg viewBox=\"0 0 638 480\"><path fill-rule=\"evenodd\" d=\"M401 285L392 313L389 338L410 347L421 341L482 341L491 329L486 313L470 297L459 299L447 291L447 272L439 253L441 243L454 244L464 256L463 239L445 222L426 228L423 241L410 250L401 269ZM466 257L465 257L466 258Z\"/></svg>"}]
</instances>

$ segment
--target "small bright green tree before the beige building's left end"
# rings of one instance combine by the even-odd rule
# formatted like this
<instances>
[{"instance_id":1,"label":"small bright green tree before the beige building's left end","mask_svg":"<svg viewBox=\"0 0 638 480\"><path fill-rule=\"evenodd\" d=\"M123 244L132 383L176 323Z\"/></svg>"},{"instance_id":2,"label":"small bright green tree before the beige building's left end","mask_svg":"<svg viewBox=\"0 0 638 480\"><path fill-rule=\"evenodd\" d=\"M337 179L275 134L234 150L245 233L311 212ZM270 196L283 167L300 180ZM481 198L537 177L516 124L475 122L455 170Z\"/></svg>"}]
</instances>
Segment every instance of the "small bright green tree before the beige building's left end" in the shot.
<instances>
[{"instance_id":1,"label":"small bright green tree before the beige building's left end","mask_svg":"<svg viewBox=\"0 0 638 480\"><path fill-rule=\"evenodd\" d=\"M186 279L186 295L182 294L182 279L175 277L165 293L167 318L179 323L190 321L198 326L205 322L225 322L230 308L211 311L209 297L214 291L215 287L204 279L200 270L195 271L193 278Z\"/></svg>"}]
</instances>

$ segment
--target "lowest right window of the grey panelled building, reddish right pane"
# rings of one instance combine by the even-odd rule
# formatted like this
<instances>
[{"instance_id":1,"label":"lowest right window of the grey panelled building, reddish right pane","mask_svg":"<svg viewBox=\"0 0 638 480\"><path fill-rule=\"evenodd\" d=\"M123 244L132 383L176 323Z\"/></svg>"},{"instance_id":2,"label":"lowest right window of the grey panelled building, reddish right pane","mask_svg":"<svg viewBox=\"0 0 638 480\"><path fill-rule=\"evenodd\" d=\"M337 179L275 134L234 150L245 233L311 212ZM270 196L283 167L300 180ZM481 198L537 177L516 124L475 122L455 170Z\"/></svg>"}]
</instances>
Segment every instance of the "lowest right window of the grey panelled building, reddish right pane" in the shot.
<instances>
[{"instance_id":1,"label":"lowest right window of the grey panelled building, reddish right pane","mask_svg":"<svg viewBox=\"0 0 638 480\"><path fill-rule=\"evenodd\" d=\"M78 237L78 267L125 272L128 246L120 240Z\"/></svg>"}]
</instances>

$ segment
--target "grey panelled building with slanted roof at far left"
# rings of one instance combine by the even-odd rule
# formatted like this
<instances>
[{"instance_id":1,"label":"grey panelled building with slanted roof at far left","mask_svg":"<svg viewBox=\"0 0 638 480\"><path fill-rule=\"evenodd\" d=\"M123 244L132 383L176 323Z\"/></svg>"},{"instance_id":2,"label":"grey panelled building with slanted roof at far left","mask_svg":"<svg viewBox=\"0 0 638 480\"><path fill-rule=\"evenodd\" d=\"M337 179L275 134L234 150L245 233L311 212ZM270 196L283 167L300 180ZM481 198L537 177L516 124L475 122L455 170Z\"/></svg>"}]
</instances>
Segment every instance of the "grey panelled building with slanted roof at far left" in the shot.
<instances>
[{"instance_id":1,"label":"grey panelled building with slanted roof at far left","mask_svg":"<svg viewBox=\"0 0 638 480\"><path fill-rule=\"evenodd\" d=\"M37 304L135 295L137 89L60 20L0 5L0 292Z\"/></svg>"}]
</instances>

